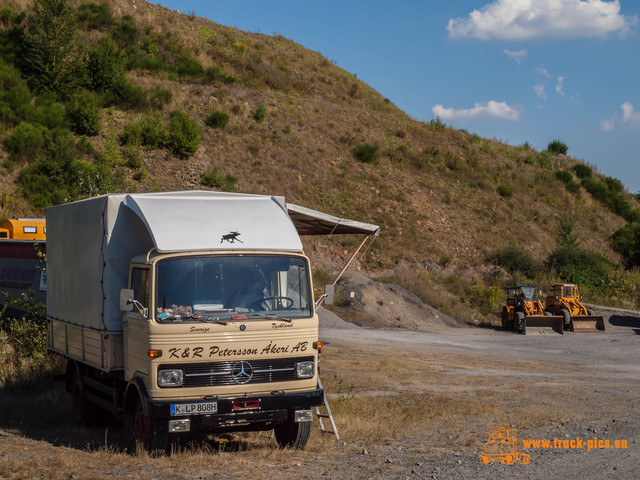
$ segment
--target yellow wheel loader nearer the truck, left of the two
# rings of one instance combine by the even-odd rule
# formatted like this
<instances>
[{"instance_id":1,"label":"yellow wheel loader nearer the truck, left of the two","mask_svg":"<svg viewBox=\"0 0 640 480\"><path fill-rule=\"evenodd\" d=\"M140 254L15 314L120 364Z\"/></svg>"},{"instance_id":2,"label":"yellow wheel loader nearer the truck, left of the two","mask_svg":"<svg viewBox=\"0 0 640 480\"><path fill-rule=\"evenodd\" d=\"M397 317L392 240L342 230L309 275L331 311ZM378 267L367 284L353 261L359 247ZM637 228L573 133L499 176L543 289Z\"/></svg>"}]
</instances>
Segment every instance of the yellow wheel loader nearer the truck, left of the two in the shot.
<instances>
[{"instance_id":1,"label":"yellow wheel loader nearer the truck, left of the two","mask_svg":"<svg viewBox=\"0 0 640 480\"><path fill-rule=\"evenodd\" d=\"M502 328L515 332L563 334L563 317L544 311L542 302L536 298L536 286L533 284L508 287L507 304L502 308Z\"/></svg>"}]
</instances>

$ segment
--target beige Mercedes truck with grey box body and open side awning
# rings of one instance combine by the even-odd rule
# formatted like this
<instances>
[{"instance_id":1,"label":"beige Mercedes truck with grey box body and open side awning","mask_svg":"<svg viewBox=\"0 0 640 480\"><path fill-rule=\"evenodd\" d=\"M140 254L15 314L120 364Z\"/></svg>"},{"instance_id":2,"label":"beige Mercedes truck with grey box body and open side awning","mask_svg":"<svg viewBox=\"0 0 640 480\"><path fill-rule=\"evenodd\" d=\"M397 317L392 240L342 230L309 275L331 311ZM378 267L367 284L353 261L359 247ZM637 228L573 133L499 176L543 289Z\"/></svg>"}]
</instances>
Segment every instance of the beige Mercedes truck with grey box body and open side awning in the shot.
<instances>
[{"instance_id":1,"label":"beige Mercedes truck with grey box body and open side awning","mask_svg":"<svg viewBox=\"0 0 640 480\"><path fill-rule=\"evenodd\" d=\"M318 317L301 234L377 234L281 197L109 194L47 209L48 349L78 423L104 411L148 451L274 430L302 448Z\"/></svg>"}]
</instances>

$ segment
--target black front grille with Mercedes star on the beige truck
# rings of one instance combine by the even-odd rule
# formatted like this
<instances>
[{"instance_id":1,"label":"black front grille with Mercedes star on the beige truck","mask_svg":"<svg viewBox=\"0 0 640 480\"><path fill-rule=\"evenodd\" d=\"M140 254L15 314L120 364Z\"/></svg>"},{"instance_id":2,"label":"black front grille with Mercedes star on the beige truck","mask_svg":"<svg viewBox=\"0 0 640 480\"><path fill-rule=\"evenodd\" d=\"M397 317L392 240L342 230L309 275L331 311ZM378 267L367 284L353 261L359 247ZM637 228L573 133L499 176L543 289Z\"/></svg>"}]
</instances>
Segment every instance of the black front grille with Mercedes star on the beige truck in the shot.
<instances>
[{"instance_id":1,"label":"black front grille with Mercedes star on the beige truck","mask_svg":"<svg viewBox=\"0 0 640 480\"><path fill-rule=\"evenodd\" d=\"M184 376L183 387L250 385L298 380L296 363L312 361L313 357L298 357L249 361L232 360L229 362L177 363L159 365L158 370L182 370Z\"/></svg>"}]
</instances>

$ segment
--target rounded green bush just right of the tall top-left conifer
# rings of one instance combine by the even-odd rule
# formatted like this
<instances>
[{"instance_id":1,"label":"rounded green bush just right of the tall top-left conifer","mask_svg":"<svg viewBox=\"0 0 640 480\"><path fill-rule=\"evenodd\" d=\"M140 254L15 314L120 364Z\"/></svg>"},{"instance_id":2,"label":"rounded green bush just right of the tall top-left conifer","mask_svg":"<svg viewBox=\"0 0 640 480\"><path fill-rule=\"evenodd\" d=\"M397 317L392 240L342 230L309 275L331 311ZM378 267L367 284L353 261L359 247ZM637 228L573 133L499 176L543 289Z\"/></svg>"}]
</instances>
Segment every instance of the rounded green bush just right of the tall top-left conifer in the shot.
<instances>
[{"instance_id":1,"label":"rounded green bush just right of the tall top-left conifer","mask_svg":"<svg viewBox=\"0 0 640 480\"><path fill-rule=\"evenodd\" d=\"M108 90L124 75L123 61L118 46L110 38L104 38L87 53L86 71L89 86L93 90Z\"/></svg>"}]
</instances>

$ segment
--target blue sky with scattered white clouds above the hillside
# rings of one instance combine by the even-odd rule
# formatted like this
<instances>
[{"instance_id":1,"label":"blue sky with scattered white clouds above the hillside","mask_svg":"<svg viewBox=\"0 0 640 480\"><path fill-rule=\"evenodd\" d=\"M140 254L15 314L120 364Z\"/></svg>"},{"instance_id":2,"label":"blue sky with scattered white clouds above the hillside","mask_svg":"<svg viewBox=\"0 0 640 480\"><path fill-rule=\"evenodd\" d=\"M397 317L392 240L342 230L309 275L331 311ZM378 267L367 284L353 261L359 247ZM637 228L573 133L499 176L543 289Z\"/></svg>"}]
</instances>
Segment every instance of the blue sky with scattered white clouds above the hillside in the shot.
<instances>
[{"instance_id":1,"label":"blue sky with scattered white clouds above the hillside","mask_svg":"<svg viewBox=\"0 0 640 480\"><path fill-rule=\"evenodd\" d=\"M638 0L162 0L323 54L413 118L569 154L640 191Z\"/></svg>"}]
</instances>

